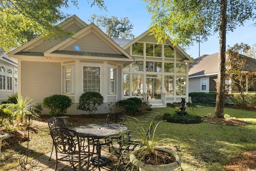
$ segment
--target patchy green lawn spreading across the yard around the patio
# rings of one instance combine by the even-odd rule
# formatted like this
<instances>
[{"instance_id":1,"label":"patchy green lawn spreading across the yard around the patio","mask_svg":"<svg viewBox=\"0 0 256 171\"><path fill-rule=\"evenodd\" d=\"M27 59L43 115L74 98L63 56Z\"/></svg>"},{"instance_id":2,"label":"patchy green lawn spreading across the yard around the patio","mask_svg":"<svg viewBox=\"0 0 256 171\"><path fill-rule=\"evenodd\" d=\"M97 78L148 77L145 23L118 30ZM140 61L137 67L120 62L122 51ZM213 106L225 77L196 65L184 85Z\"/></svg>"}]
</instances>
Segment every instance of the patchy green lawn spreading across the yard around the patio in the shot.
<instances>
[{"instance_id":1,"label":"patchy green lawn spreading across the yard around the patio","mask_svg":"<svg viewBox=\"0 0 256 171\"><path fill-rule=\"evenodd\" d=\"M172 112L174 109L159 108L153 109L143 115L136 115L139 120L144 120L148 115L156 114L156 120L161 120L164 112ZM176 109L175 109L176 110ZM214 115L215 107L187 107L188 113L205 116L211 113ZM177 141L167 145L178 145L178 154L182 158L182 169L184 171L224 171L223 168L230 159L243 151L256 149L256 113L255 111L225 108L224 113L230 117L236 117L250 121L251 124L243 126L223 126L202 122L198 124L179 124L161 122L157 127L156 135L166 134L164 138L172 138ZM69 122L74 127L87 123L106 123L106 115L96 115L90 118L85 115L70 115ZM29 148L33 155L42 155L51 150L52 140L49 135L47 120L50 116L42 116L32 125ZM148 123L141 123L145 128ZM127 125L128 126L128 125ZM10 131L14 135L3 141L0 162L0 171L5 171L19 165L18 160L26 151L25 128L16 128ZM167 136L168 135L168 136ZM160 140L160 138L159 138ZM162 144L159 144L162 145ZM255 168L250 168L255 169ZM180 169L176 169L177 171ZM248 170L248 169L246 169Z\"/></svg>"}]
</instances>

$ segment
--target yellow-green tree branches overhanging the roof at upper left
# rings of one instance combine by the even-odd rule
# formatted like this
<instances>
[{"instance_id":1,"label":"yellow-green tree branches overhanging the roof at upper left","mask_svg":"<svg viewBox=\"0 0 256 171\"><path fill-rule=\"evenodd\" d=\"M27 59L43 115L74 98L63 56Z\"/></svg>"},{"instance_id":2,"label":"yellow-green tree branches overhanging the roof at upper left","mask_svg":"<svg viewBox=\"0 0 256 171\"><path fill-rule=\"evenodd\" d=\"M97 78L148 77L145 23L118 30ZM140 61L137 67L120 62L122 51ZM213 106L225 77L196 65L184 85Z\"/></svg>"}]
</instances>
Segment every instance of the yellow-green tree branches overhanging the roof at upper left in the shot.
<instances>
[{"instance_id":1,"label":"yellow-green tree branches overhanging the roof at upper left","mask_svg":"<svg viewBox=\"0 0 256 171\"><path fill-rule=\"evenodd\" d=\"M78 0L0 0L0 46L9 51L32 38L42 35L63 38L65 32L56 24L70 15L61 11L69 8L69 1L78 8ZM87 0L105 9L104 0Z\"/></svg>"}]
</instances>

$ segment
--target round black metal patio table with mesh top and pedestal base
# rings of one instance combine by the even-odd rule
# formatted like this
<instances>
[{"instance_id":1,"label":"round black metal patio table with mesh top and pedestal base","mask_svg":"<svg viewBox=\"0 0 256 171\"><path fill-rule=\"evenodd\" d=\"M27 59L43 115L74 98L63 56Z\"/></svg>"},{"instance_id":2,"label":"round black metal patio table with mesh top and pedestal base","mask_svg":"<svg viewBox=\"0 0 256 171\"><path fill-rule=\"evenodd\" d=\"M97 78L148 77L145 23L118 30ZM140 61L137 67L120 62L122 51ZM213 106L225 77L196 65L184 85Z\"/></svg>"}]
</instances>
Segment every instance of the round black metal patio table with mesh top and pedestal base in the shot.
<instances>
[{"instance_id":1,"label":"round black metal patio table with mesh top and pedestal base","mask_svg":"<svg viewBox=\"0 0 256 171\"><path fill-rule=\"evenodd\" d=\"M118 124L89 124L73 128L81 138L91 139L106 139L110 136L120 134L127 131L127 127ZM88 142L89 143L89 142ZM100 145L99 145L100 146ZM99 149L100 150L100 149ZM99 151L100 153L100 151ZM99 165L106 165L110 162L110 159L106 156L99 155ZM92 165L98 165L98 159L96 157L91 159Z\"/></svg>"}]
</instances>

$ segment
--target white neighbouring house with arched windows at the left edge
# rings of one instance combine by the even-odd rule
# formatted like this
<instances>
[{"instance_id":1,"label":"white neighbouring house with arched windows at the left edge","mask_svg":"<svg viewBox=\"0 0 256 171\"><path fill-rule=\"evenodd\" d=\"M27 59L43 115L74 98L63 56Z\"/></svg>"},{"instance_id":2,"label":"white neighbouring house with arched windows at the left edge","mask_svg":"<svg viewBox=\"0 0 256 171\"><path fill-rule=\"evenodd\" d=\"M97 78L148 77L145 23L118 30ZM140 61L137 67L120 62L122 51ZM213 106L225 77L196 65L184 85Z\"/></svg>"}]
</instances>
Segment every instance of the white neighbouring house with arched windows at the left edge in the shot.
<instances>
[{"instance_id":1,"label":"white neighbouring house with arched windows at the left edge","mask_svg":"<svg viewBox=\"0 0 256 171\"><path fill-rule=\"evenodd\" d=\"M4 48L0 47L0 103L8 96L17 93L18 61L9 58Z\"/></svg>"}]
</instances>

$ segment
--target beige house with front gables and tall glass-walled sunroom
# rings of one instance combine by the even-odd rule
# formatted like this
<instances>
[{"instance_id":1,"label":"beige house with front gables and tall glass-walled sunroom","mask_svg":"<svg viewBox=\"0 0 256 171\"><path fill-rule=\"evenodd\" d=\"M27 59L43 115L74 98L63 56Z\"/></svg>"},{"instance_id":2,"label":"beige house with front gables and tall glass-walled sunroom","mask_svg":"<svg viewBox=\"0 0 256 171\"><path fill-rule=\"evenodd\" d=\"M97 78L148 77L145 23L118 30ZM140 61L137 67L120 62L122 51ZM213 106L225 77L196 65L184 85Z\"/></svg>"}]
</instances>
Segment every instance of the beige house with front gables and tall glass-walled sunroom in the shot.
<instances>
[{"instance_id":1,"label":"beige house with front gables and tall glass-walled sunroom","mask_svg":"<svg viewBox=\"0 0 256 171\"><path fill-rule=\"evenodd\" d=\"M76 34L64 40L38 36L8 54L18 59L18 95L34 103L53 94L68 95L74 103L69 114L85 113L76 107L86 91L104 97L97 113L108 113L116 101L130 97L158 107L188 99L187 64L194 61L170 40L157 44L148 31L134 40L109 38L76 15L58 26Z\"/></svg>"}]
</instances>

